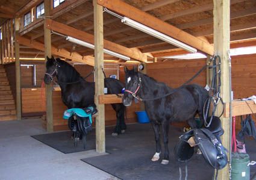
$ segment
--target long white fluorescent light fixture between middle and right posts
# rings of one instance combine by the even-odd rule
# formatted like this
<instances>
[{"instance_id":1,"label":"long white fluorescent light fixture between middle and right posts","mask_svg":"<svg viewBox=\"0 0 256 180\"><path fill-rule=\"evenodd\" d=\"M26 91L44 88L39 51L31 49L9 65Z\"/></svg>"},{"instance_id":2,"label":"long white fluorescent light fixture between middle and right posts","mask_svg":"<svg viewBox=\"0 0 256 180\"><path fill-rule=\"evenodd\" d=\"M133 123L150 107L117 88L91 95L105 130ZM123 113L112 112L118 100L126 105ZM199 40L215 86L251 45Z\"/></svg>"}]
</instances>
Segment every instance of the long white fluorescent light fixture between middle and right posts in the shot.
<instances>
[{"instance_id":1,"label":"long white fluorescent light fixture between middle and right posts","mask_svg":"<svg viewBox=\"0 0 256 180\"><path fill-rule=\"evenodd\" d=\"M160 33L158 31L155 31L155 29L152 29L152 28L149 28L148 26L145 26L139 22L136 22L135 20L132 20L132 19L129 19L128 17L123 17L121 19L121 22L122 23L125 23L126 25L128 26L131 26L133 28L136 28L146 34L149 34L151 36L154 36L160 40L163 40L164 42L167 42L167 43L170 43L172 45L175 45L181 49L184 49L188 52L191 52L191 53L196 53L197 52L197 49L189 46L189 45L186 45L185 43L182 43L176 39L173 39L172 37L169 37L169 36L166 36L165 34L163 33Z\"/></svg>"}]
</instances>

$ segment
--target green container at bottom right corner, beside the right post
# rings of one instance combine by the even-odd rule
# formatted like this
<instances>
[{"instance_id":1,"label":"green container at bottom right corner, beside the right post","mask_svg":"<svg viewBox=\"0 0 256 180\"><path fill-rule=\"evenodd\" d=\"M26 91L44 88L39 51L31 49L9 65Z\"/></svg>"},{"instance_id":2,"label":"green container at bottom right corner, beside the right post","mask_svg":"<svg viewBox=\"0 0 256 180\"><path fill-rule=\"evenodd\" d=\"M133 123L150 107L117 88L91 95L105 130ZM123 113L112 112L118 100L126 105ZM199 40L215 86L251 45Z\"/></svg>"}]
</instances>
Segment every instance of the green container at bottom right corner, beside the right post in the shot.
<instances>
[{"instance_id":1,"label":"green container at bottom right corner, beside the right post","mask_svg":"<svg viewBox=\"0 0 256 180\"><path fill-rule=\"evenodd\" d=\"M250 158L248 154L233 153L231 155L231 179L249 180L250 179Z\"/></svg>"}]
</instances>

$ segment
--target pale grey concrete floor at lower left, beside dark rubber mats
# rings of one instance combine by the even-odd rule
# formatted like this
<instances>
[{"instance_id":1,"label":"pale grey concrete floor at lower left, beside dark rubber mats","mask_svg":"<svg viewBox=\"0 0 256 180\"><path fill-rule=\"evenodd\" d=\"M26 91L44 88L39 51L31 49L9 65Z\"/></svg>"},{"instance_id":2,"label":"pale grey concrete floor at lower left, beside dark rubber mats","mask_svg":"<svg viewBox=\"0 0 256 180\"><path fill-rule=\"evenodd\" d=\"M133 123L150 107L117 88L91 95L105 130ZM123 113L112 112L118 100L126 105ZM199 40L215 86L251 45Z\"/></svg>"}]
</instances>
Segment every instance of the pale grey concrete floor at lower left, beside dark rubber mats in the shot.
<instances>
[{"instance_id":1,"label":"pale grey concrete floor at lower left, beside dark rubber mats","mask_svg":"<svg viewBox=\"0 0 256 180\"><path fill-rule=\"evenodd\" d=\"M81 161L94 150L63 154L30 137L43 133L40 119L0 122L1 180L117 179Z\"/></svg>"}]
</instances>

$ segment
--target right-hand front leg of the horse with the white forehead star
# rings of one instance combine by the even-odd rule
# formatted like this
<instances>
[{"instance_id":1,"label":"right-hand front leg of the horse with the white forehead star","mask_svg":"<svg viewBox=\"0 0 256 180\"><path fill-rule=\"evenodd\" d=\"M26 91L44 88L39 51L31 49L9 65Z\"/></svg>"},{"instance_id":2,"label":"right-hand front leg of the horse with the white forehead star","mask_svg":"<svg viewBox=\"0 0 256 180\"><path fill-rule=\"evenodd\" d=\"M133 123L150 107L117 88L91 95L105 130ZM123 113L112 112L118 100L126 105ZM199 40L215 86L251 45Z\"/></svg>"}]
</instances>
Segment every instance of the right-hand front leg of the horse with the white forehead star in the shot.
<instances>
[{"instance_id":1,"label":"right-hand front leg of the horse with the white forehead star","mask_svg":"<svg viewBox=\"0 0 256 180\"><path fill-rule=\"evenodd\" d=\"M168 132L169 132L169 122L164 120L162 123L163 129L163 143L164 143L164 158L161 164L168 164L169 163L169 147L168 147Z\"/></svg>"}]
</instances>

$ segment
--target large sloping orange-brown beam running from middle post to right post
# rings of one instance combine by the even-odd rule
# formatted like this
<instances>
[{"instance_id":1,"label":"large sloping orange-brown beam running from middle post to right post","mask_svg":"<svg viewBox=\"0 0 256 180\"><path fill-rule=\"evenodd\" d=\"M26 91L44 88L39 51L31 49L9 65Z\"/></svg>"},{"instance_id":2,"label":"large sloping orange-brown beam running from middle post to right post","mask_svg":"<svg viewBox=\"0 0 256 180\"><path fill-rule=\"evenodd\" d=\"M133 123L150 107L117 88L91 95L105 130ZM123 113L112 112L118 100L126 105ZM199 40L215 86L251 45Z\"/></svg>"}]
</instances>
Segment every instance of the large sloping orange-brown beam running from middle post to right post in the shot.
<instances>
[{"instance_id":1,"label":"large sloping orange-brown beam running from middle post to right post","mask_svg":"<svg viewBox=\"0 0 256 180\"><path fill-rule=\"evenodd\" d=\"M126 4L120 0L98 0L99 5L107 7L110 10L116 11L123 16L129 17L133 20L136 20L143 25L149 26L150 28L155 29L167 36L173 37L176 40L179 40L187 45L193 46L194 48L205 52L207 54L213 55L213 46L209 43L204 42L203 40L198 39L195 36L192 36L181 29L176 28L175 26L170 25L169 23L164 22L163 20L158 19L157 17L151 16L148 13L143 12L129 4ZM122 7L122 8L120 8Z\"/></svg>"}]
</instances>

